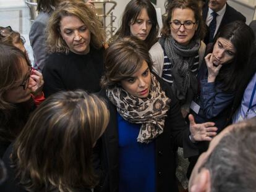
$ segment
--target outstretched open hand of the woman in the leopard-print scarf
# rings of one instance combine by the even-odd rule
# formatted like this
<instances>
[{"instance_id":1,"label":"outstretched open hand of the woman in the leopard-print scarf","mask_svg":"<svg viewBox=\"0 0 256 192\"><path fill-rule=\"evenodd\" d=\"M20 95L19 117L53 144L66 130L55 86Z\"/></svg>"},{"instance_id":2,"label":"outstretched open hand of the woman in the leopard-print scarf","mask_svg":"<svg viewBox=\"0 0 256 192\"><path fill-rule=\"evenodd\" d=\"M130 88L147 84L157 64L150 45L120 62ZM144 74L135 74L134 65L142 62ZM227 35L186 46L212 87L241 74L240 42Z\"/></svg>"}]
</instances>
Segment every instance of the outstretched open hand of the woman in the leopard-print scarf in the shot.
<instances>
[{"instance_id":1,"label":"outstretched open hand of the woman in the leopard-print scarf","mask_svg":"<svg viewBox=\"0 0 256 192\"><path fill-rule=\"evenodd\" d=\"M217 133L216 131L218 128L213 127L215 123L207 122L202 124L195 123L193 115L189 115L189 130L191 141L211 141L212 137L215 136Z\"/></svg>"}]
</instances>

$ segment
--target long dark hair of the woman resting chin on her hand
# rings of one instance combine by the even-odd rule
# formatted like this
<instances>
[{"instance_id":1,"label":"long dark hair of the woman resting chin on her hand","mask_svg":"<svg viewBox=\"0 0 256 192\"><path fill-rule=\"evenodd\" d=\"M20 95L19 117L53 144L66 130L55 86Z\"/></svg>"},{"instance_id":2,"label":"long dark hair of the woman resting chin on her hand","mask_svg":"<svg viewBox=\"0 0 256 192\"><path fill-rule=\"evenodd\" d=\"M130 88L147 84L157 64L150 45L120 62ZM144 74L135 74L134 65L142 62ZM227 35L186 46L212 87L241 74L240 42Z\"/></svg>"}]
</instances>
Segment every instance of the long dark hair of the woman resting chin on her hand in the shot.
<instances>
[{"instance_id":1,"label":"long dark hair of the woman resting chin on her hand","mask_svg":"<svg viewBox=\"0 0 256 192\"><path fill-rule=\"evenodd\" d=\"M216 35L214 44L217 43L218 38L231 41L236 49L236 54L229 64L224 64L221 67L216 81L221 82L223 91L235 91L245 71L249 69L249 59L255 40L254 31L244 22L237 20L221 28Z\"/></svg>"}]
</instances>

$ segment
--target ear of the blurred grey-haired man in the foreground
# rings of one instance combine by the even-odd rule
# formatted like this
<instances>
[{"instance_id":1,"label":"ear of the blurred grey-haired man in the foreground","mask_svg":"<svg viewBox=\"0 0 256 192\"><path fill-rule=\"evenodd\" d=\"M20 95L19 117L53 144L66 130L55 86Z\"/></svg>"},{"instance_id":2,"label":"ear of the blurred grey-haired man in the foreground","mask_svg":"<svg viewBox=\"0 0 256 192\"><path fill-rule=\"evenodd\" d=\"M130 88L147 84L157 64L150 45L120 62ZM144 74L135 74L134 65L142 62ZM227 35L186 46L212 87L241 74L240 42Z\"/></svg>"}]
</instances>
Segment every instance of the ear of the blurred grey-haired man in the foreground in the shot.
<instances>
[{"instance_id":1,"label":"ear of the blurred grey-haired man in the foreground","mask_svg":"<svg viewBox=\"0 0 256 192\"><path fill-rule=\"evenodd\" d=\"M211 186L210 172L208 169L202 169L197 175L197 179L190 188L190 192L210 192Z\"/></svg>"}]
</instances>

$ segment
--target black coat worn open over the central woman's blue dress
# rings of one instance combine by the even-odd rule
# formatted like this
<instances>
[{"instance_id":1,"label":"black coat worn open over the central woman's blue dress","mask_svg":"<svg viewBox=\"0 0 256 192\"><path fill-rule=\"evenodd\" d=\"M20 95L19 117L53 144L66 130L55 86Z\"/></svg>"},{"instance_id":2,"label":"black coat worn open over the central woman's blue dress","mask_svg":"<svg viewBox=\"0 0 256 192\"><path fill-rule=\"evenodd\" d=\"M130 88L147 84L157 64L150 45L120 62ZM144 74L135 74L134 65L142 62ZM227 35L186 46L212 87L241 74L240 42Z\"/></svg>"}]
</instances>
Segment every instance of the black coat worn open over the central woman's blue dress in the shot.
<instances>
[{"instance_id":1,"label":"black coat worn open over the central woman's blue dress","mask_svg":"<svg viewBox=\"0 0 256 192\"><path fill-rule=\"evenodd\" d=\"M157 76L156 76L157 77ZM166 96L171 99L168 117L164 122L164 130L156 138L156 191L169 192L177 191L176 182L176 148L183 146L184 156L194 156L198 154L197 146L189 140L189 126L181 115L179 102L167 85L160 77L157 77ZM119 183L119 160L118 160L118 128L117 111L106 97L106 90L100 91L100 96L108 103L110 120L105 133L101 136L101 167L105 172L105 183L101 185L101 191L118 192Z\"/></svg>"}]
</instances>

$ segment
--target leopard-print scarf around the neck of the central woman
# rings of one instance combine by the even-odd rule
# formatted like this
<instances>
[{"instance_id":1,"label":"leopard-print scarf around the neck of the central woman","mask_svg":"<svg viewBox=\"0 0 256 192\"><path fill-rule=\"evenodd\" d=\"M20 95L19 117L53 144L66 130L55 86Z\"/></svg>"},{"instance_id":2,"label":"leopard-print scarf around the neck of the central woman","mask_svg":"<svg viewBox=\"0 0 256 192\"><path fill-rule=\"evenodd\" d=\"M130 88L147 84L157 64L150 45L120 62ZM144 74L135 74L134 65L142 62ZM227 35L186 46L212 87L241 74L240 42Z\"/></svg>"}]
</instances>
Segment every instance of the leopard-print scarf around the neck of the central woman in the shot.
<instances>
[{"instance_id":1,"label":"leopard-print scarf around the neck of the central woman","mask_svg":"<svg viewBox=\"0 0 256 192\"><path fill-rule=\"evenodd\" d=\"M169 110L169 99L161 90L160 83L151 73L148 98L137 98L119 86L106 90L108 99L117 107L117 112L130 123L142 123L137 141L150 143L163 133L164 119Z\"/></svg>"}]
</instances>

